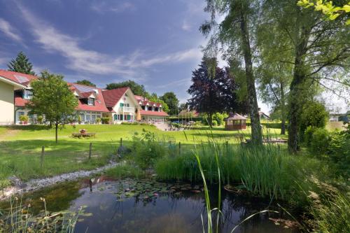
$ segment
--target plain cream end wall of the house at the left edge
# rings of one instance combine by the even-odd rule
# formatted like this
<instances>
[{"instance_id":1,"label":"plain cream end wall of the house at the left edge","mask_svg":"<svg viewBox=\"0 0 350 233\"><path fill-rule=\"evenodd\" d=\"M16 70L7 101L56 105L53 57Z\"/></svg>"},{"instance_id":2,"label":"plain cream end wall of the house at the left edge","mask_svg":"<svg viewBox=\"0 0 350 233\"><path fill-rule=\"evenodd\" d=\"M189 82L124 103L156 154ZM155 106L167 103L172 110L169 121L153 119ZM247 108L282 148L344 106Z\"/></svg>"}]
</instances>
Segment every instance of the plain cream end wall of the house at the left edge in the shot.
<instances>
[{"instance_id":1,"label":"plain cream end wall of the house at the left edge","mask_svg":"<svg viewBox=\"0 0 350 233\"><path fill-rule=\"evenodd\" d=\"M0 125L11 125L14 122L14 95L13 85L0 81Z\"/></svg>"}]
</instances>

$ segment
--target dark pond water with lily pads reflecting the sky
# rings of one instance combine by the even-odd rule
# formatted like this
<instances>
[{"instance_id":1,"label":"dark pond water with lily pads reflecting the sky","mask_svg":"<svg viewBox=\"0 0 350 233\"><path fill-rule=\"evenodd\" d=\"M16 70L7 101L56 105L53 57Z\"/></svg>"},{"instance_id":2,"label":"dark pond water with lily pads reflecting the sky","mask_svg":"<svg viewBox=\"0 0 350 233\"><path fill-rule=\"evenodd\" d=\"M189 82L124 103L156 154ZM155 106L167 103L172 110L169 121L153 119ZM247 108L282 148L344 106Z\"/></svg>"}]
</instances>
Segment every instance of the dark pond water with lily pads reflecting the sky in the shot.
<instances>
[{"instance_id":1,"label":"dark pond water with lily pads reflecting the sky","mask_svg":"<svg viewBox=\"0 0 350 233\"><path fill-rule=\"evenodd\" d=\"M217 190L210 193L211 208L215 208L218 206ZM89 181L67 182L22 199L38 212L43 207L40 197L45 197L48 211L77 211L85 206L85 213L91 216L80 217L76 232L203 232L201 216L204 227L207 226L204 192L200 185L129 179L109 181L101 177L92 180L91 185ZM231 232L251 214L265 210L269 202L223 191L221 206L220 232ZM285 223L289 221L275 223L286 216L281 210L274 210L279 213L259 213L239 225L235 232L298 232L295 227L287 228Z\"/></svg>"}]
</instances>

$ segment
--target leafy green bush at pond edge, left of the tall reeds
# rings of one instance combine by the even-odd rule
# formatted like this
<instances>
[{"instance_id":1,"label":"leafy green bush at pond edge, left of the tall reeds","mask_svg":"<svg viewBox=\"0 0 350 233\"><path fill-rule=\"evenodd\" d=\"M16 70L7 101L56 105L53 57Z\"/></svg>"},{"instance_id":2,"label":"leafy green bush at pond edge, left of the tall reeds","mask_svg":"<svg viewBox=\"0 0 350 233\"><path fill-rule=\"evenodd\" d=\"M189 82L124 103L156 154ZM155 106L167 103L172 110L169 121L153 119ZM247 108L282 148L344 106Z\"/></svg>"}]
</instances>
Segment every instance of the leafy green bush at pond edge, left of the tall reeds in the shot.
<instances>
[{"instance_id":1,"label":"leafy green bush at pond edge, left of the tall reeds","mask_svg":"<svg viewBox=\"0 0 350 233\"><path fill-rule=\"evenodd\" d=\"M158 141L153 132L142 130L141 136L135 133L132 137L132 149L135 162L141 169L148 169L165 155L165 146Z\"/></svg>"}]
</instances>

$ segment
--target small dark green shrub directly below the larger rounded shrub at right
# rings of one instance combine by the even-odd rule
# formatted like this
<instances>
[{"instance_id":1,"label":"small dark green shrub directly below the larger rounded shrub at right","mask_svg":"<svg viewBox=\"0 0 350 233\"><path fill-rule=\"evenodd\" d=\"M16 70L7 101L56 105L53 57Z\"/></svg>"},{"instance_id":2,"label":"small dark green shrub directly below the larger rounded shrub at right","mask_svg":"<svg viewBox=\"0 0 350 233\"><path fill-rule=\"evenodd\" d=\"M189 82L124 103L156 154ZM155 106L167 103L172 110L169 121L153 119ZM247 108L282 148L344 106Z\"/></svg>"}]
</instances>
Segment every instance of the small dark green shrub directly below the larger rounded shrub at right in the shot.
<instances>
[{"instance_id":1,"label":"small dark green shrub directly below the larger rounded shrub at right","mask_svg":"<svg viewBox=\"0 0 350 233\"><path fill-rule=\"evenodd\" d=\"M309 149L316 156L325 155L329 148L330 139L330 132L327 129L315 129Z\"/></svg>"}]
</instances>

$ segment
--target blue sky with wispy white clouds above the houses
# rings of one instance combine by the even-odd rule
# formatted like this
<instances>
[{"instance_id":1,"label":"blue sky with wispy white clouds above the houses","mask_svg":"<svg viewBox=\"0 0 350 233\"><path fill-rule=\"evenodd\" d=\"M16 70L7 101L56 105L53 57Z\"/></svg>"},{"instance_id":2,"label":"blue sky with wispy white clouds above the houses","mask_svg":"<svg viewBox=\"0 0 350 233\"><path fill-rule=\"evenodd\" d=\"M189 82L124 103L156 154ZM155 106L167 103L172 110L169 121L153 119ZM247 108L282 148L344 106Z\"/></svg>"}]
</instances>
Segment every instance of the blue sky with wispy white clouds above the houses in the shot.
<instances>
[{"instance_id":1,"label":"blue sky with wispy white clouds above the houses","mask_svg":"<svg viewBox=\"0 0 350 233\"><path fill-rule=\"evenodd\" d=\"M207 41L199 31L209 19L204 6L204 0L0 0L0 69L23 51L36 73L47 69L98 87L134 80L186 102Z\"/></svg>"}]
</instances>

